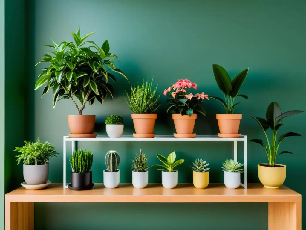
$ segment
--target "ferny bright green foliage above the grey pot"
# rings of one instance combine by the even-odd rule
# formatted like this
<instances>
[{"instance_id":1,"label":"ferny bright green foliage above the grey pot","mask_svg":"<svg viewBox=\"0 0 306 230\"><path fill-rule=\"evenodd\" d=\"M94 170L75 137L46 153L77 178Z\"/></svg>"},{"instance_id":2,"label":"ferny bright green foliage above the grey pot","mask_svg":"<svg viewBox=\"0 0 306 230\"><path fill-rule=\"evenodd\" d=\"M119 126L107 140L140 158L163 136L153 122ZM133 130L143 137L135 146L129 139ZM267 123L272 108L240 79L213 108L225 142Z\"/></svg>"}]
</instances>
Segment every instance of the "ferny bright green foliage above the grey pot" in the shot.
<instances>
[{"instance_id":1,"label":"ferny bright green foliage above the grey pot","mask_svg":"<svg viewBox=\"0 0 306 230\"><path fill-rule=\"evenodd\" d=\"M50 157L54 157L58 154L55 148L48 141L40 142L39 137L35 143L31 143L24 140L25 145L23 147L15 147L14 151L21 153L17 155L17 164L23 161L26 165L41 165L46 164Z\"/></svg>"}]
</instances>

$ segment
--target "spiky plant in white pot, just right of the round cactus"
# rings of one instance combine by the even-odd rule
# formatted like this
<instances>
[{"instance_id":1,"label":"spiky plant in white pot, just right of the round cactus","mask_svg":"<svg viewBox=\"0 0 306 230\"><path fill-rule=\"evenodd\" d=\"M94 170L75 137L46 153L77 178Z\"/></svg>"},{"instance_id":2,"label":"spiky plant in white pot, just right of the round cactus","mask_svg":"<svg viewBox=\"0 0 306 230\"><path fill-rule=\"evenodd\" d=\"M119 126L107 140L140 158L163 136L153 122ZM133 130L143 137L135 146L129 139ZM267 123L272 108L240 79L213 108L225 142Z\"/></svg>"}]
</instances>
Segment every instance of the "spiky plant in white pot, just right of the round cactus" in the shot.
<instances>
[{"instance_id":1,"label":"spiky plant in white pot, just right of the round cactus","mask_svg":"<svg viewBox=\"0 0 306 230\"><path fill-rule=\"evenodd\" d=\"M135 160L132 159L131 164L132 184L135 188L139 189L148 185L149 171L147 169L153 166L146 166L147 159L145 156L145 154L142 154L142 149L140 148L139 156L135 153Z\"/></svg>"}]
</instances>

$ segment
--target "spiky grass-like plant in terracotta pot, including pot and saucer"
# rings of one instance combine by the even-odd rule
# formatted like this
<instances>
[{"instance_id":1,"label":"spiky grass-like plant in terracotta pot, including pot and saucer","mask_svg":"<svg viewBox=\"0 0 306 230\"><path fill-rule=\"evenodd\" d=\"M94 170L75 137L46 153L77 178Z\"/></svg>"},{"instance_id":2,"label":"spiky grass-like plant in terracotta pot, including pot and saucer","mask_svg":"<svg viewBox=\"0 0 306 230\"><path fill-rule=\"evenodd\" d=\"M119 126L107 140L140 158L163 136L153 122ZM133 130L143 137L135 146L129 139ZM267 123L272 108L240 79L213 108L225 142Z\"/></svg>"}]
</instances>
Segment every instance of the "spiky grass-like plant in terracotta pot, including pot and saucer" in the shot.
<instances>
[{"instance_id":1,"label":"spiky grass-like plant in terracotta pot, including pot and saucer","mask_svg":"<svg viewBox=\"0 0 306 230\"><path fill-rule=\"evenodd\" d=\"M157 86L154 91L151 91L152 82L144 85L144 80L142 81L142 86L140 87L137 83L137 87L131 86L131 94L126 93L129 109L133 112L132 119L135 128L133 136L135 138L153 138L155 137L154 126L155 120L157 119L156 110L159 107L158 100L160 94L155 98Z\"/></svg>"}]
</instances>

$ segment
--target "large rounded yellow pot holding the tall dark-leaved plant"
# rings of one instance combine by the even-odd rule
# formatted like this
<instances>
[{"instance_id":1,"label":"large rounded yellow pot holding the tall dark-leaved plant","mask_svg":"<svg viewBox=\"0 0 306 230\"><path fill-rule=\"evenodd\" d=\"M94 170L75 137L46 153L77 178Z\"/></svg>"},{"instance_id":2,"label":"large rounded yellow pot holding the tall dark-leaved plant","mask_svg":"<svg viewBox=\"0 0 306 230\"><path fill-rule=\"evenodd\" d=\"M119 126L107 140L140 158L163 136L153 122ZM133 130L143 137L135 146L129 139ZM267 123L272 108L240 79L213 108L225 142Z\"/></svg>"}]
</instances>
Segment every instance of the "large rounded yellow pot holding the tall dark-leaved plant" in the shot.
<instances>
[{"instance_id":1,"label":"large rounded yellow pot holding the tall dark-leaved plant","mask_svg":"<svg viewBox=\"0 0 306 230\"><path fill-rule=\"evenodd\" d=\"M282 167L267 167L263 165L269 164L258 164L258 177L260 182L269 189L278 189L286 179L286 166L283 164L275 164Z\"/></svg>"}]
</instances>

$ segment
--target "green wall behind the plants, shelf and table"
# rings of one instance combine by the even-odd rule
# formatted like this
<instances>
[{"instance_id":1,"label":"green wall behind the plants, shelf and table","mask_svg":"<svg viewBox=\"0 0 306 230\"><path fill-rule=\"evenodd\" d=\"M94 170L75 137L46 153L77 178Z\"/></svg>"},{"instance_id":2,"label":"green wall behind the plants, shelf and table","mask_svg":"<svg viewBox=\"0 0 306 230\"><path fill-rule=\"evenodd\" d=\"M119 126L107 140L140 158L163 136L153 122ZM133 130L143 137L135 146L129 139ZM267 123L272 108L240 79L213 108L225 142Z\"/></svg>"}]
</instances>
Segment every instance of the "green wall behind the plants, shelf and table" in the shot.
<instances>
[{"instance_id":1,"label":"green wall behind the plants, shelf and table","mask_svg":"<svg viewBox=\"0 0 306 230\"><path fill-rule=\"evenodd\" d=\"M305 7L306 2L302 0L291 1L290 4L285 0L35 1L31 8L33 12L29 13L32 21L28 22L30 27L33 23L29 33L33 39L28 37L33 47L26 57L34 56L33 61L31 58L28 60L32 67L49 50L42 45L50 44L51 37L57 42L72 40L70 30L76 31L80 26L83 35L96 31L90 40L95 40L98 44L102 44L105 39L109 40L111 52L121 60L120 69L132 83L142 80L148 74L149 77L154 76L154 83L159 84L160 91L178 78L188 78L198 84L200 92L221 96L211 65L222 65L231 76L250 67L248 78L241 89L241 94L247 94L249 99L242 99L243 103L237 107L236 112L243 113L240 131L248 135L248 139L263 138L251 115L264 116L270 102L277 101L284 111L306 110L303 93L306 83L303 69L306 33L302 29L306 19ZM28 87L34 88L33 82L40 69L45 66L42 64L35 70L28 70L31 75ZM10 80L6 74L7 79ZM129 85L118 76L114 89L114 101L108 98L102 106L96 103L91 107L87 105L84 114L96 115L96 132L99 134L105 134L105 117L119 114L125 118L124 133L130 134L133 132L130 111L122 96ZM37 136L43 141L48 140L60 152L61 155L50 160L49 179L52 182L62 182L62 138L69 132L66 117L77 114L77 110L68 100L58 102L53 109L52 95L48 93L41 98L41 91L42 89L33 93L34 101L29 100L26 103L33 106L33 116L27 115L27 122L31 124L28 127L33 129L30 137L33 140ZM160 100L162 105L155 128L158 134L174 132L171 115L164 112L165 99L162 96ZM218 126L215 113L223 112L222 105L210 100L205 108L207 116L197 119L195 131L198 134L216 134ZM31 112L30 109L27 114ZM285 185L302 195L306 193L305 184L300 182L300 178L304 178L306 174L304 116L300 114L284 121L282 132L299 132L303 137L285 140L280 150L292 151L294 155L278 157L278 163L287 165ZM24 125L20 125L22 130ZM14 140L13 146L18 144ZM220 166L226 158L232 156L233 148L231 143L206 142L81 143L79 146L94 151L94 182L103 182L103 159L105 153L111 149L117 150L121 155L121 182L131 182L130 158L140 147L146 153L149 164L158 163L157 152L167 155L176 151L178 158L184 158L185 163L178 167L179 182L192 182L189 165L198 157L210 163L210 181L222 182ZM238 147L242 149L241 145ZM70 149L68 146L67 151ZM249 182L258 182L257 164L264 162L267 159L263 149L249 143ZM21 170L22 166L18 168ZM150 182L160 181L160 171L150 169ZM146 215L141 215L143 213ZM305 218L306 214L303 212L303 220ZM180 220L184 220L184 223ZM158 226L168 229L245 229L246 226L248 229L267 229L268 226L267 204L35 205L36 229L84 229L86 223L90 224L91 229L156 229Z\"/></svg>"}]
</instances>

